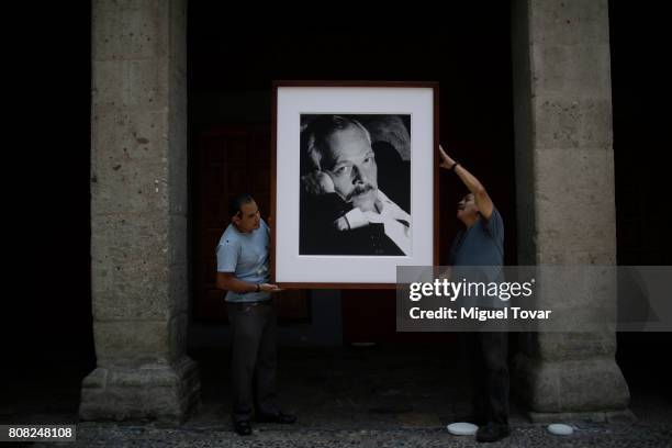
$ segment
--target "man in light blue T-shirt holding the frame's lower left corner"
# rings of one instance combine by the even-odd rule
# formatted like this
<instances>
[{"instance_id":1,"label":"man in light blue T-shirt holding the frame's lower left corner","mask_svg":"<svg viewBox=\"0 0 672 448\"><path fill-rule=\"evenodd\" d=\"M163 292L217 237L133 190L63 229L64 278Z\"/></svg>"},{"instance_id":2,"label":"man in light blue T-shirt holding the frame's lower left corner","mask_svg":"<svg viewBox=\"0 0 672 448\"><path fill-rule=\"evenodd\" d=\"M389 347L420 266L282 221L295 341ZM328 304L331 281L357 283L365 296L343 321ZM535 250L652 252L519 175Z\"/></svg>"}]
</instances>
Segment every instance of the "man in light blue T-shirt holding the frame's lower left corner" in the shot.
<instances>
[{"instance_id":1,"label":"man in light blue T-shirt holding the frame's lower left corner","mask_svg":"<svg viewBox=\"0 0 672 448\"><path fill-rule=\"evenodd\" d=\"M216 285L227 290L232 331L233 424L242 436L251 434L253 405L257 422L291 424L276 402L276 312L270 294L269 228L249 194L228 204L231 224L217 245ZM254 382L254 384L253 384Z\"/></svg>"}]
</instances>

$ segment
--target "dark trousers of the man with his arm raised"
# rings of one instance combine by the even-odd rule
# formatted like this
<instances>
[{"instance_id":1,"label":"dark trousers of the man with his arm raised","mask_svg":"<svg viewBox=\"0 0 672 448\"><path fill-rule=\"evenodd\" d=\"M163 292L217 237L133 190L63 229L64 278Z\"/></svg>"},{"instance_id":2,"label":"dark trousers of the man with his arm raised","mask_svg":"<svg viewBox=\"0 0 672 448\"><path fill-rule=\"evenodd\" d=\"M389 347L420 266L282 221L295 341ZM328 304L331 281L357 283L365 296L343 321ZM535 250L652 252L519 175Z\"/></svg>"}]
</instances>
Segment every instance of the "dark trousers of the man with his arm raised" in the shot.
<instances>
[{"instance_id":1,"label":"dark trousers of the man with his arm raised","mask_svg":"<svg viewBox=\"0 0 672 448\"><path fill-rule=\"evenodd\" d=\"M508 424L508 333L463 333L472 390L472 412Z\"/></svg>"}]
</instances>

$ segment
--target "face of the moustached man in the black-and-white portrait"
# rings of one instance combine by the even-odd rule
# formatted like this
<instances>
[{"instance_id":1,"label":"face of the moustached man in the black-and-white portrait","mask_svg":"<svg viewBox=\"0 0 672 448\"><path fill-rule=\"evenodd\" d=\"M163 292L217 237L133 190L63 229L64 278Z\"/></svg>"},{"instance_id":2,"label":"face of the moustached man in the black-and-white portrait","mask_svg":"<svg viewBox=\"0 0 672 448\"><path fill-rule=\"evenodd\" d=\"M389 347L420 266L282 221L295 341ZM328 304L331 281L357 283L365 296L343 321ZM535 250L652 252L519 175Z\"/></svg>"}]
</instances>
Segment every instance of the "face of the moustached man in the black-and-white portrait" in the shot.
<instances>
[{"instance_id":1,"label":"face of the moustached man in the black-and-white portrait","mask_svg":"<svg viewBox=\"0 0 672 448\"><path fill-rule=\"evenodd\" d=\"M332 134L327 143L333 164L323 169L334 181L334 190L352 206L376 211L378 166L363 131L348 127Z\"/></svg>"}]
</instances>

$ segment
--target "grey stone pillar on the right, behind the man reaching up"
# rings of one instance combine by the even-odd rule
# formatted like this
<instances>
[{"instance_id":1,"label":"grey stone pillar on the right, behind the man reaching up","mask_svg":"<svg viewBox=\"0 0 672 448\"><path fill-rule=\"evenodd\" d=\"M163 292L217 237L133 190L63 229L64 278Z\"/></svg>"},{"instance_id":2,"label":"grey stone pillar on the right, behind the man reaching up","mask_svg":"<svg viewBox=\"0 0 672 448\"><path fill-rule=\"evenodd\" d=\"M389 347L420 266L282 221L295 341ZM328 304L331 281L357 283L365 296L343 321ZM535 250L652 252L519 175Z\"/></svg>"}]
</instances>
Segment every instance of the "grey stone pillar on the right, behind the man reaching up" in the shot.
<instances>
[{"instance_id":1,"label":"grey stone pillar on the right, behind the man reaching up","mask_svg":"<svg viewBox=\"0 0 672 448\"><path fill-rule=\"evenodd\" d=\"M519 264L615 265L607 0L512 5ZM565 305L576 316L613 310L615 290L604 287L568 291ZM517 390L533 419L623 414L629 391L615 352L608 328L525 334Z\"/></svg>"}]
</instances>

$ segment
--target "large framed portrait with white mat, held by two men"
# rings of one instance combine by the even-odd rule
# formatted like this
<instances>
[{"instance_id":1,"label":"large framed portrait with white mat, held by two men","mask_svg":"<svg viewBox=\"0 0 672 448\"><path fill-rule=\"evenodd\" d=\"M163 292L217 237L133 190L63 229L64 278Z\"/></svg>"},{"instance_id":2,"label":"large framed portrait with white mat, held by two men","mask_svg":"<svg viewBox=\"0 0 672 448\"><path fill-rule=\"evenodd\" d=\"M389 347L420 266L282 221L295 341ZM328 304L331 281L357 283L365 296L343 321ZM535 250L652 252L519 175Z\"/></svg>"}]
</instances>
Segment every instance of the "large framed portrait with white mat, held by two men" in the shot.
<instances>
[{"instance_id":1,"label":"large framed portrait with white mat, held by two men","mask_svg":"<svg viewBox=\"0 0 672 448\"><path fill-rule=\"evenodd\" d=\"M273 83L273 281L394 288L438 265L438 83Z\"/></svg>"}]
</instances>

